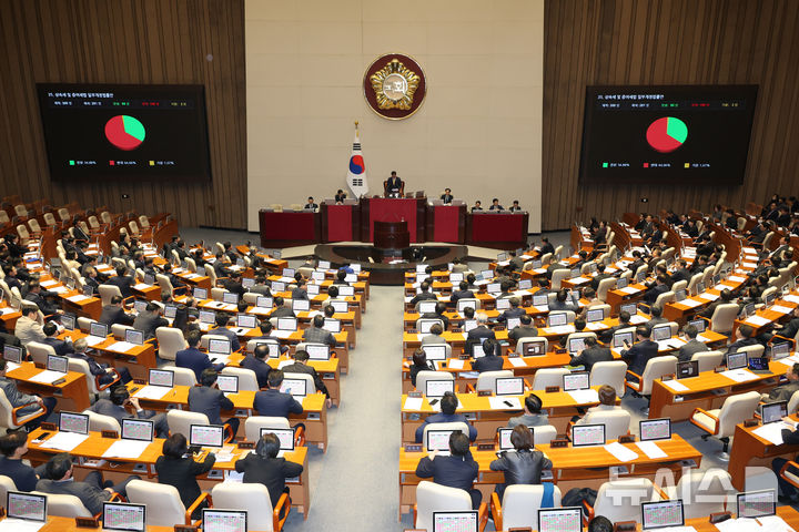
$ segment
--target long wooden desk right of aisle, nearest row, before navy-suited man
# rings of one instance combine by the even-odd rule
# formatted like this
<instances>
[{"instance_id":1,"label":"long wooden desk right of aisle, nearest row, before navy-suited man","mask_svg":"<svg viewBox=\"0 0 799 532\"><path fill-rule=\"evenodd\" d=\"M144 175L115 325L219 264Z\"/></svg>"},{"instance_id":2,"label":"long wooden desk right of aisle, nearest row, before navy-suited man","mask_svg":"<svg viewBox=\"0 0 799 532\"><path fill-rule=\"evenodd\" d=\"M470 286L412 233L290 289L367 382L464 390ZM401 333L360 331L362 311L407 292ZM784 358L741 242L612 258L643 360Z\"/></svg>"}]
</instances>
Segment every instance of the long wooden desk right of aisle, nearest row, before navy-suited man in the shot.
<instances>
[{"instance_id":1,"label":"long wooden desk right of aisle, nearest row, before navy-suited man","mask_svg":"<svg viewBox=\"0 0 799 532\"><path fill-rule=\"evenodd\" d=\"M654 479L658 469L667 468L675 474L675 481L682 473L682 461L692 460L696 467L701 462L701 453L694 449L678 434L670 440L660 440L657 446L668 454L663 459L650 459L638 449L635 443L625 443L626 448L635 451L638 458L631 462L620 462L601 446L597 447L565 447L553 449L549 444L536 446L553 462L553 482L558 485L562 493L572 488L598 489L609 478L609 468L626 466L629 472L620 478L636 477ZM416 467L425 452L405 452L400 450L400 516L409 512L416 502L416 485L425 479L416 477ZM495 451L472 450L472 456L479 464L479 473L475 488L483 493L483 500L489 500L490 493L497 483L505 480L500 471L490 471L489 464L496 460ZM707 520L706 520L707 521Z\"/></svg>"}]
</instances>

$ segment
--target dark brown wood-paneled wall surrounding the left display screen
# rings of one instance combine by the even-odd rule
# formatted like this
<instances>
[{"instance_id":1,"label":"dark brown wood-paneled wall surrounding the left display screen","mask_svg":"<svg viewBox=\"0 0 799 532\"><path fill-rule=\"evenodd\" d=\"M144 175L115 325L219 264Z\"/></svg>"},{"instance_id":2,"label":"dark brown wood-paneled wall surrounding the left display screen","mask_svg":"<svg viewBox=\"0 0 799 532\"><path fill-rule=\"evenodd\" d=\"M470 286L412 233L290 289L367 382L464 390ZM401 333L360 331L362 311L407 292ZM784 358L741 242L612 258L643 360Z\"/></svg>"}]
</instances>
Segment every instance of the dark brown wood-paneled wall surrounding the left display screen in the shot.
<instances>
[{"instance_id":1,"label":"dark brown wood-paneled wall surrounding the left display screen","mask_svg":"<svg viewBox=\"0 0 799 532\"><path fill-rule=\"evenodd\" d=\"M243 0L2 0L0 13L0 196L245 226ZM38 82L205 85L212 182L51 182Z\"/></svg>"}]
</instances>

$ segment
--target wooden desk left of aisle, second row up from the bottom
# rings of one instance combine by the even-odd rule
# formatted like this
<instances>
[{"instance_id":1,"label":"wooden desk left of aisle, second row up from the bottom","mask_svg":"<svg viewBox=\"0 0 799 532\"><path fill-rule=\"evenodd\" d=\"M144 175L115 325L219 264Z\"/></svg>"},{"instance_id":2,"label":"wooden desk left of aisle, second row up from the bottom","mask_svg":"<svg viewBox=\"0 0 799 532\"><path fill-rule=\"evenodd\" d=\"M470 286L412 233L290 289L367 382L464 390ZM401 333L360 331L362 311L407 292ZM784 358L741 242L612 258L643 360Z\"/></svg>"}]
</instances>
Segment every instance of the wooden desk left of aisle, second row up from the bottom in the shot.
<instances>
[{"instance_id":1,"label":"wooden desk left of aisle, second row up from the bottom","mask_svg":"<svg viewBox=\"0 0 799 532\"><path fill-rule=\"evenodd\" d=\"M128 383L128 389L141 389L143 385L136 385L133 381ZM135 392L131 393L134 395ZM249 418L257 416L253 410L253 401L255 399L254 391L240 391L231 393L227 398L233 401L233 410L223 411L223 418ZM327 450L327 407L325 405L324 393L312 393L303 400L303 413L292 413L289 416L289 422L292 427L297 423L305 424L305 439L309 443L318 446L320 449ZM142 408L150 410L166 411L172 408L181 410L189 409L189 387L175 386L171 392L166 392L161 399L140 399ZM244 433L244 423L239 427L239 434Z\"/></svg>"}]
</instances>

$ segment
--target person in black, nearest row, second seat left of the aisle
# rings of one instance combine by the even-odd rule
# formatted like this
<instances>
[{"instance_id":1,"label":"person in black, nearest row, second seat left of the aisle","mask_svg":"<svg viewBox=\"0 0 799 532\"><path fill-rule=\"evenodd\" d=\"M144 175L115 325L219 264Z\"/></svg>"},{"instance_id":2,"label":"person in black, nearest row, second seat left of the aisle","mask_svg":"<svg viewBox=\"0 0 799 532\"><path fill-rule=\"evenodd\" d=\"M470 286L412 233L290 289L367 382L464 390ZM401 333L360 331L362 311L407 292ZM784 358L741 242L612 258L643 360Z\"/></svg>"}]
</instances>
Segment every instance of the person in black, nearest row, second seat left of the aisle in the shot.
<instances>
[{"instance_id":1,"label":"person in black, nearest row, second seat left of the aisle","mask_svg":"<svg viewBox=\"0 0 799 532\"><path fill-rule=\"evenodd\" d=\"M189 453L185 436L180 432L170 434L163 443L163 456L155 461L155 472L159 484L173 485L181 495L181 502L185 508L191 507L200 497L200 484L198 475L211 471L216 462L216 454L209 452L202 462L194 460ZM192 519L202 516L202 509L208 508L208 501L203 501L192 513Z\"/></svg>"}]
</instances>

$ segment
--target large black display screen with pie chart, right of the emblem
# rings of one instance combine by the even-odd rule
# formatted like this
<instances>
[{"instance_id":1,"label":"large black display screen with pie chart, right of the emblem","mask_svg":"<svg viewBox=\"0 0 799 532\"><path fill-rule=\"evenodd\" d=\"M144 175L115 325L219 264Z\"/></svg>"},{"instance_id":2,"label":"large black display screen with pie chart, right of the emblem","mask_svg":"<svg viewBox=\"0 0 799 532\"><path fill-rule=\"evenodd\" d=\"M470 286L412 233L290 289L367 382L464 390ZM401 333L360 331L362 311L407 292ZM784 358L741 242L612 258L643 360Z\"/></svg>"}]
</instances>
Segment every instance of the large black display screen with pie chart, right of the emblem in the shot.
<instances>
[{"instance_id":1,"label":"large black display screen with pie chart, right of the emblem","mask_svg":"<svg viewBox=\"0 0 799 532\"><path fill-rule=\"evenodd\" d=\"M588 86L580 183L744 182L757 85Z\"/></svg>"}]
</instances>

